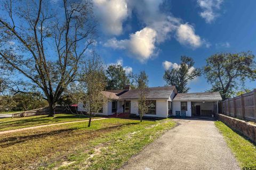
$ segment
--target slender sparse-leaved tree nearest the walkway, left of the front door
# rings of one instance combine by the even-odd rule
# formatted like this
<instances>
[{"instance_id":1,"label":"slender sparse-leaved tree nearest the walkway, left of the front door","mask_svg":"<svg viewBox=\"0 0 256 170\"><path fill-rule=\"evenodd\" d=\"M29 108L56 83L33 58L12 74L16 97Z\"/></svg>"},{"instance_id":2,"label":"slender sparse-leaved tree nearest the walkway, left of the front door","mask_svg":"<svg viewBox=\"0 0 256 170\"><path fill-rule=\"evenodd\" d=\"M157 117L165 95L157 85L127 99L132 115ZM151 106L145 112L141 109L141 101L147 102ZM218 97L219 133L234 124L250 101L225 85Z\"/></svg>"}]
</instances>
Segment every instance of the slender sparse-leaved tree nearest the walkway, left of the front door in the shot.
<instances>
[{"instance_id":1,"label":"slender sparse-leaved tree nearest the walkway, left of the front door","mask_svg":"<svg viewBox=\"0 0 256 170\"><path fill-rule=\"evenodd\" d=\"M80 85L86 89L82 103L84 104L87 115L89 115L88 127L91 126L92 117L99 113L107 100L101 93L106 87L106 80L102 79L105 77L104 71L105 67L97 55L93 54L91 58L86 60Z\"/></svg>"}]
</instances>

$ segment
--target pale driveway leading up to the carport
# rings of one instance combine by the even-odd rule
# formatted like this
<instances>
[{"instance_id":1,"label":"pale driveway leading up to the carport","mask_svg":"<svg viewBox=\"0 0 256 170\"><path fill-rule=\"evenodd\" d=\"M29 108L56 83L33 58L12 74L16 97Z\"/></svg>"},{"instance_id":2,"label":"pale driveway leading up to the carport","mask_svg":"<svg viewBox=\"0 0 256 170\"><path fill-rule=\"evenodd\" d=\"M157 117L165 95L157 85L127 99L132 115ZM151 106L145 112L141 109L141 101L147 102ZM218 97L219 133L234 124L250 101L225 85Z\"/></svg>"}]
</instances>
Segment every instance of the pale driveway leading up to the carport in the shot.
<instances>
[{"instance_id":1,"label":"pale driveway leading up to the carport","mask_svg":"<svg viewBox=\"0 0 256 170\"><path fill-rule=\"evenodd\" d=\"M214 121L175 121L178 126L132 157L121 169L240 169Z\"/></svg>"}]
</instances>

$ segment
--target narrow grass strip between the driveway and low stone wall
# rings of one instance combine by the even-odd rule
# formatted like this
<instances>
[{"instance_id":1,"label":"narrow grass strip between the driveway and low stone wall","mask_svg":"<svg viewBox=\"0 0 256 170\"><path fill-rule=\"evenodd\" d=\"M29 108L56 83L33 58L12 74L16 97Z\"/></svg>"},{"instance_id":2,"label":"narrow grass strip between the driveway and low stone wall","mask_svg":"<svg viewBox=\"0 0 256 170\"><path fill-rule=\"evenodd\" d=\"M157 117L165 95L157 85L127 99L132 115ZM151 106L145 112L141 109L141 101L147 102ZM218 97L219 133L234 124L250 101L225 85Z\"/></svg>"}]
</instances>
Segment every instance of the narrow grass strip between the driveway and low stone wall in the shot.
<instances>
[{"instance_id":1,"label":"narrow grass strip between the driveway and low stone wall","mask_svg":"<svg viewBox=\"0 0 256 170\"><path fill-rule=\"evenodd\" d=\"M215 125L223 134L229 148L238 160L239 166L256 168L256 147L249 140L231 130L227 125L218 121Z\"/></svg>"}]
</instances>

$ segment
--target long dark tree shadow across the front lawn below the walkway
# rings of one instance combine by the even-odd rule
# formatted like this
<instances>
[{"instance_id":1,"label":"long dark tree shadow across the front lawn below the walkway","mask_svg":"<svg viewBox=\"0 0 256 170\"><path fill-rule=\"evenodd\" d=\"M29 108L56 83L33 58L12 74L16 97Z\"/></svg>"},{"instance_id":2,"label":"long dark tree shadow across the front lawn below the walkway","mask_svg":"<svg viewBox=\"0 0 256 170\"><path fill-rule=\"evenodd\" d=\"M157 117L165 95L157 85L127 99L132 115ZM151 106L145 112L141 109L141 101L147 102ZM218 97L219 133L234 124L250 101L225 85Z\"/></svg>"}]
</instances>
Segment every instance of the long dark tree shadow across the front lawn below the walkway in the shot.
<instances>
[{"instance_id":1,"label":"long dark tree shadow across the front lawn below the walkway","mask_svg":"<svg viewBox=\"0 0 256 170\"><path fill-rule=\"evenodd\" d=\"M126 125L134 125L138 124L139 122L134 122L134 123L126 123L126 124L121 124L121 125L115 125L115 126L110 126L106 128L101 128L97 130L87 130L87 131L81 131L81 133L78 133L76 135L83 135L83 134L90 134L92 135L92 132L94 133L100 133L102 132L109 132L113 131L114 129L120 129L122 126ZM10 147L12 145L22 143L28 140L35 140L35 139L43 139L46 137L51 137L54 135L61 135L61 138L65 138L70 136L75 130L78 129L87 129L88 127L80 127L80 128L71 128L71 129L62 129L62 130L55 130L55 131L50 131L50 132L45 132L45 133L38 133L38 134L33 134L33 135L22 135L22 133L18 136L15 137L8 137L4 139L0 139L0 147L5 148L5 147Z\"/></svg>"}]
</instances>

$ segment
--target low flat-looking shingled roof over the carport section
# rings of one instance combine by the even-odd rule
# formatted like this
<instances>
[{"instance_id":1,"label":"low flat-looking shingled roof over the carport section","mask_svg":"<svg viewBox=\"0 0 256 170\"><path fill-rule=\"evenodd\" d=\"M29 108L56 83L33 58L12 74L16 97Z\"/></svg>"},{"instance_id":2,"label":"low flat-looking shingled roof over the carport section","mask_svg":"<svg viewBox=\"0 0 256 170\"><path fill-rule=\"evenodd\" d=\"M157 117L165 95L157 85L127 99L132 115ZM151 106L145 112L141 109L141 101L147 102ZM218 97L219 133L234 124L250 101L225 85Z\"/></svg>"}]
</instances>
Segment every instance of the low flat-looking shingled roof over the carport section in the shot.
<instances>
[{"instance_id":1,"label":"low flat-looking shingled roof over the carport section","mask_svg":"<svg viewBox=\"0 0 256 170\"><path fill-rule=\"evenodd\" d=\"M195 92L177 94L173 101L219 101L222 100L219 92Z\"/></svg>"}]
</instances>

